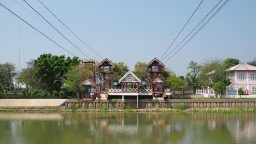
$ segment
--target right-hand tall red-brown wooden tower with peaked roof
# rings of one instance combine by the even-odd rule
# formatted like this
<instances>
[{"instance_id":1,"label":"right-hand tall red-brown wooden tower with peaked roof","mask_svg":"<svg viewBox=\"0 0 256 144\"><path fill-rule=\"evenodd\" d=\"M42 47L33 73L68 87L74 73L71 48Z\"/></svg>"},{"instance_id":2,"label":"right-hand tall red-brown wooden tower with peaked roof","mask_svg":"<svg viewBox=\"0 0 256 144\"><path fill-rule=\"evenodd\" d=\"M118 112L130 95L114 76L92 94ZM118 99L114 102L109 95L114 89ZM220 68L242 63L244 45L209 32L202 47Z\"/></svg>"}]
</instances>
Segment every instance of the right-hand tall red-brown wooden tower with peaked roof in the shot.
<instances>
[{"instance_id":1,"label":"right-hand tall red-brown wooden tower with peaked roof","mask_svg":"<svg viewBox=\"0 0 256 144\"><path fill-rule=\"evenodd\" d=\"M159 61L159 59L154 58L148 63L148 73L150 75L150 86L152 88L153 97L162 97L164 94L164 81L163 80L163 70L165 64ZM163 95L164 94L164 95Z\"/></svg>"}]
</instances>

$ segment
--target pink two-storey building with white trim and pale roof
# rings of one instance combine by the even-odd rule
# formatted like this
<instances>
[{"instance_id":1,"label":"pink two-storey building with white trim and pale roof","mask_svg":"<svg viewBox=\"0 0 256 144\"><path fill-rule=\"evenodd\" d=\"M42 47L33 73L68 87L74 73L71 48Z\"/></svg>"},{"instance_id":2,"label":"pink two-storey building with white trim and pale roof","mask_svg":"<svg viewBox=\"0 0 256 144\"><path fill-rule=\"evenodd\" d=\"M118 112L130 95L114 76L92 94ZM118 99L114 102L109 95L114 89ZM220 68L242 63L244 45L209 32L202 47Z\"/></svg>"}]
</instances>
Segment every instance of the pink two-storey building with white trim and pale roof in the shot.
<instances>
[{"instance_id":1,"label":"pink two-storey building with white trim and pale roof","mask_svg":"<svg viewBox=\"0 0 256 144\"><path fill-rule=\"evenodd\" d=\"M242 88L245 94L256 95L256 67L240 63L226 71L229 72L228 76L232 82L228 87L229 95L233 95L232 91L238 95L237 90L239 88Z\"/></svg>"}]
</instances>

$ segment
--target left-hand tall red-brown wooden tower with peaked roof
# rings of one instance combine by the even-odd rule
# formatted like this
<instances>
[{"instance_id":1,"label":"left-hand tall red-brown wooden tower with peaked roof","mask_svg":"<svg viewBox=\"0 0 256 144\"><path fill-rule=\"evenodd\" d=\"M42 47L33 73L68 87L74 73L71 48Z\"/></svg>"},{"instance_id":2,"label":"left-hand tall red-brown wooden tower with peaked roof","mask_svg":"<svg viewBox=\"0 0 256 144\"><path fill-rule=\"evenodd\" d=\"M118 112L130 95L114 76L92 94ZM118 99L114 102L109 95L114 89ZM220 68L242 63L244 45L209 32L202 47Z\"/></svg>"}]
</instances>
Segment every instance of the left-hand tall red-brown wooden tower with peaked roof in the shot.
<instances>
[{"instance_id":1,"label":"left-hand tall red-brown wooden tower with peaked roof","mask_svg":"<svg viewBox=\"0 0 256 144\"><path fill-rule=\"evenodd\" d=\"M102 89L111 88L111 75L114 73L115 65L108 58L103 59L97 65L98 72L102 74Z\"/></svg>"}]
</instances>

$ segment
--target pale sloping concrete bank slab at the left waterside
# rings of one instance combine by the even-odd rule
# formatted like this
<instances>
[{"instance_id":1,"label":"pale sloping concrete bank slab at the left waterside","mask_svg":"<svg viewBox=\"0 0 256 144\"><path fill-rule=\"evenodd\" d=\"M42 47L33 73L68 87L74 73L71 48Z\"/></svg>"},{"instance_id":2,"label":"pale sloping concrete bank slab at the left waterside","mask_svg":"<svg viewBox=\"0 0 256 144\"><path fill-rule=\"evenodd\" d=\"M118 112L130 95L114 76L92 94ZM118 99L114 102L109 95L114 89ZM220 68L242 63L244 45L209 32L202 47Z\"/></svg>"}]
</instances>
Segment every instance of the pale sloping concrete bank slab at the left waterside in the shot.
<instances>
[{"instance_id":1,"label":"pale sloping concrete bank slab at the left waterside","mask_svg":"<svg viewBox=\"0 0 256 144\"><path fill-rule=\"evenodd\" d=\"M66 99L0 99L0 107L60 106Z\"/></svg>"}]
</instances>

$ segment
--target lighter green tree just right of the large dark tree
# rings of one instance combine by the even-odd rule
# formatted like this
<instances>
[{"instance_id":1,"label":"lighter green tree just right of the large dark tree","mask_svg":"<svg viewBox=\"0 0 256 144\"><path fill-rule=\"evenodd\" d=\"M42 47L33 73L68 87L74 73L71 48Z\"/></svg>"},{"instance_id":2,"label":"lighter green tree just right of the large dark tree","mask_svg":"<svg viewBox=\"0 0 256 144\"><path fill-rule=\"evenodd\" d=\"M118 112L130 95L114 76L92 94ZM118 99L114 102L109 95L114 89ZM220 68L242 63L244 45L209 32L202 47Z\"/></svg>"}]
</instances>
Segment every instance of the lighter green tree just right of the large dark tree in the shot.
<instances>
[{"instance_id":1,"label":"lighter green tree just right of the large dark tree","mask_svg":"<svg viewBox=\"0 0 256 144\"><path fill-rule=\"evenodd\" d=\"M79 98L80 92L80 83L82 82L82 67L81 65L72 66L71 69L68 70L67 74L64 75L65 78L62 78L62 81L65 84L65 88L69 92L75 92L77 98Z\"/></svg>"}]
</instances>

